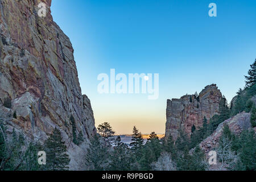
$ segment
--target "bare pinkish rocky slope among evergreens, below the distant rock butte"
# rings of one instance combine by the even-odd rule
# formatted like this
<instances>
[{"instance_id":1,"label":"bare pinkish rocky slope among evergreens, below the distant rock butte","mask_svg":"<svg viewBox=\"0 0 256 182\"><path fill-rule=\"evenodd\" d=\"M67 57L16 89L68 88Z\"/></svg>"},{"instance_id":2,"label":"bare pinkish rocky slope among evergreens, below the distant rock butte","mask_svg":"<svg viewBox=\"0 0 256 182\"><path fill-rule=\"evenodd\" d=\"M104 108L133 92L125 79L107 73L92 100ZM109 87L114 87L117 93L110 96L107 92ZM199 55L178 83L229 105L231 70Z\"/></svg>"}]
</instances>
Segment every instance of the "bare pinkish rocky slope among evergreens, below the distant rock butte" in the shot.
<instances>
[{"instance_id":1,"label":"bare pinkish rocky slope among evergreens, below the distant rock butte","mask_svg":"<svg viewBox=\"0 0 256 182\"><path fill-rule=\"evenodd\" d=\"M228 125L230 131L234 134L240 135L243 130L251 128L250 113L243 112L220 123L214 133L200 143L200 147L205 151L205 153L208 153L217 147L218 140L221 137L222 130L225 125Z\"/></svg>"}]
</instances>

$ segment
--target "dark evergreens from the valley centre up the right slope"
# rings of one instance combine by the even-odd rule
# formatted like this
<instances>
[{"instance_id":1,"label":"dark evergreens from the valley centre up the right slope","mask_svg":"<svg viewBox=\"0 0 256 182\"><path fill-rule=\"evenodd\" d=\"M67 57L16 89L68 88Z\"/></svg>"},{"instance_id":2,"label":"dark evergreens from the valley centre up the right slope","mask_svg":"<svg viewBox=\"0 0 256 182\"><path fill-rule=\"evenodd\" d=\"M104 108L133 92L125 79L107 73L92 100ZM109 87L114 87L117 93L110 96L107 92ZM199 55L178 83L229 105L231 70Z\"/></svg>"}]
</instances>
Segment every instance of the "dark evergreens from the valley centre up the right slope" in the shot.
<instances>
[{"instance_id":1,"label":"dark evergreens from the valley centre up the right slope","mask_svg":"<svg viewBox=\"0 0 256 182\"><path fill-rule=\"evenodd\" d=\"M101 170L206 170L209 164L205 159L204 152L200 149L199 143L207 138L217 129L220 123L226 119L246 111L251 113L251 125L255 127L255 104L251 100L256 95L255 75L256 63L251 65L246 76L246 87L240 89L234 103L228 106L223 96L219 104L219 114L214 115L207 121L203 119L203 126L196 128L192 126L191 136L179 129L179 135L174 141L171 136L166 139L159 139L155 133L151 133L147 142L143 141L142 134L134 126L132 142L128 146L121 142L121 138L115 139L114 147L111 144L104 144L100 140L91 140L89 151L93 148L102 149L102 155L97 153L100 164L93 152L89 152L86 158L90 166L100 166L94 169ZM199 97L195 94L196 99ZM192 97L189 97L192 102ZM199 107L199 106L198 106ZM114 132L108 125L105 126L106 133L100 132L103 138L112 136ZM101 128L102 128L101 126ZM106 140L105 140L106 141ZM96 147L97 146L97 147ZM100 147L101 146L101 147ZM256 138L253 130L245 130L240 136L234 135L228 126L224 126L218 147L215 149L218 155L218 168L230 170L255 170L256 169ZM98 151L98 150L97 150ZM111 158L109 158L111 156ZM94 159L94 160L92 160ZM94 161L94 162L93 162ZM103 162L103 163L102 163Z\"/></svg>"}]
</instances>

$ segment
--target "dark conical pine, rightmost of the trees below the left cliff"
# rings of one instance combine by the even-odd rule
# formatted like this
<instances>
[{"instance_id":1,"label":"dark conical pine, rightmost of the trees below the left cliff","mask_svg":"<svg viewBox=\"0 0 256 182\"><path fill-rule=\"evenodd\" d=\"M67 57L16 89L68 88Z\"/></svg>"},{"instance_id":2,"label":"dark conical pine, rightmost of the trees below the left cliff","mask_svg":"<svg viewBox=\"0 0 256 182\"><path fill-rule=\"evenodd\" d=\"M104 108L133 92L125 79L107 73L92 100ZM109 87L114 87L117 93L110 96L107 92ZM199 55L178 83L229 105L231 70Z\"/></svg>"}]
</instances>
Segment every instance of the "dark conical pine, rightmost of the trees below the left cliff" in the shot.
<instances>
[{"instance_id":1,"label":"dark conical pine, rightmost of the trees below the left cliff","mask_svg":"<svg viewBox=\"0 0 256 182\"><path fill-rule=\"evenodd\" d=\"M51 136L45 142L46 169L50 171L64 171L69 167L69 157L66 154L67 147L62 141L60 130L55 128Z\"/></svg>"}]
</instances>

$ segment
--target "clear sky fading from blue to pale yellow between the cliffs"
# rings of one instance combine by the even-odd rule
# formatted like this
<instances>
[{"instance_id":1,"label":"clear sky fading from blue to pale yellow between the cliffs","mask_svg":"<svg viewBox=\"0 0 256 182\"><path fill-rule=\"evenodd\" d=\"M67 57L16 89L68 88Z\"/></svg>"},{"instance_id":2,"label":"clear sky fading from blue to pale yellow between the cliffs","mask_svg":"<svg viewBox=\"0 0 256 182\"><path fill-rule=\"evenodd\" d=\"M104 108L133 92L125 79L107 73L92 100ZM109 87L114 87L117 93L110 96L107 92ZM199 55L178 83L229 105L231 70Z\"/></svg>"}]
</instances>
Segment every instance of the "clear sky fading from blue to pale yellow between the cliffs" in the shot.
<instances>
[{"instance_id":1,"label":"clear sky fading from blue to pale yellow between the cliffs","mask_svg":"<svg viewBox=\"0 0 256 182\"><path fill-rule=\"evenodd\" d=\"M217 16L210 17L209 3ZM256 58L256 1L52 0L53 20L71 40L82 94L96 126L117 134L162 134L167 99L217 84L228 102ZM101 73L158 73L159 97L100 94Z\"/></svg>"}]
</instances>

